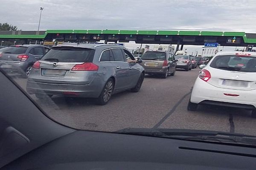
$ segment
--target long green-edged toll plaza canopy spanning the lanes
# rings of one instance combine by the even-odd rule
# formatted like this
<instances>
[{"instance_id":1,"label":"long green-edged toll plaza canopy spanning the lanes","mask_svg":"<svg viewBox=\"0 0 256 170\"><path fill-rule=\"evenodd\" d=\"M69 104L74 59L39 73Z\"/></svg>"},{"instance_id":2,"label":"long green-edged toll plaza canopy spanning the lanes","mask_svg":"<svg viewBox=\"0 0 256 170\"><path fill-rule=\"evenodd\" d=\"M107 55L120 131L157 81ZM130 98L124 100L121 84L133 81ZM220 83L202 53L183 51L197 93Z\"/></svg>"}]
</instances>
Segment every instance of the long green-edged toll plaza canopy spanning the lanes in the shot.
<instances>
[{"instance_id":1,"label":"long green-edged toll plaza canopy spanning the lanes","mask_svg":"<svg viewBox=\"0 0 256 170\"><path fill-rule=\"evenodd\" d=\"M129 42L148 44L204 45L217 42L224 46L256 45L256 34L231 31L145 31L145 30L47 30L0 31L0 40L59 42ZM254 45L254 46L255 46Z\"/></svg>"}]
</instances>

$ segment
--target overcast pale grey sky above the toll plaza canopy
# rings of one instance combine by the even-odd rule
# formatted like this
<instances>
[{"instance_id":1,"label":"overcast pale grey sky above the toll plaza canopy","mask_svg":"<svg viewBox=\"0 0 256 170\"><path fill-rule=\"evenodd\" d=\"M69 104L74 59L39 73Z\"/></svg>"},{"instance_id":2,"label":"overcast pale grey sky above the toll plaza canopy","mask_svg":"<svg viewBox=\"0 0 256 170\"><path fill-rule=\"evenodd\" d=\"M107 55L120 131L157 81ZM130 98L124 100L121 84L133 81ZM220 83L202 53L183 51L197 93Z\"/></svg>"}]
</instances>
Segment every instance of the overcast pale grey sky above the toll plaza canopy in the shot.
<instances>
[{"instance_id":1,"label":"overcast pale grey sky above the toll plaza canopy","mask_svg":"<svg viewBox=\"0 0 256 170\"><path fill-rule=\"evenodd\" d=\"M22 30L145 29L256 33L256 0L1 0L0 23Z\"/></svg>"}]
</instances>

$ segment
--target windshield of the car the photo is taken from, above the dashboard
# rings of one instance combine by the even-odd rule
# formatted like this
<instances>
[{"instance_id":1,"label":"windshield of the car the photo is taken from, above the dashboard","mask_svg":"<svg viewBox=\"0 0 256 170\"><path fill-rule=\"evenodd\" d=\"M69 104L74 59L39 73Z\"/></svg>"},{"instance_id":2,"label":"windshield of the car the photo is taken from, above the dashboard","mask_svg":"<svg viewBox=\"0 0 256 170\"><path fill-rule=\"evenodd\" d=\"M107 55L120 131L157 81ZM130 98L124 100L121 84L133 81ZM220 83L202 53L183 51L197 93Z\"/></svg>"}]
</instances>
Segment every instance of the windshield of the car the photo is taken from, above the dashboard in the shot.
<instances>
[{"instance_id":1,"label":"windshield of the car the photo is taken from, above the dashboard","mask_svg":"<svg viewBox=\"0 0 256 170\"><path fill-rule=\"evenodd\" d=\"M47 119L106 134L146 129L166 140L256 136L256 1L0 5L0 46L8 46L0 49L0 72Z\"/></svg>"}]
</instances>

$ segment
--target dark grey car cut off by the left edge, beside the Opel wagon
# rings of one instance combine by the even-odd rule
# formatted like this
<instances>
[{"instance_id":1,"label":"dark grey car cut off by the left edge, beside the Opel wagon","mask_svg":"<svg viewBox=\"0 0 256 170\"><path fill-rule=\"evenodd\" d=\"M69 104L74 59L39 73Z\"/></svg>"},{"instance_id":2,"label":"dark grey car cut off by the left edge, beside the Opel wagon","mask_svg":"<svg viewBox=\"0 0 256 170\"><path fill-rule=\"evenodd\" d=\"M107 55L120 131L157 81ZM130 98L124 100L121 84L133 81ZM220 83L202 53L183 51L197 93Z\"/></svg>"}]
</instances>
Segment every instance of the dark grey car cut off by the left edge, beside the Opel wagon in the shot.
<instances>
[{"instance_id":1,"label":"dark grey car cut off by the left edge, beside the Opel wagon","mask_svg":"<svg viewBox=\"0 0 256 170\"><path fill-rule=\"evenodd\" d=\"M12 45L2 48L0 53L0 68L7 73L29 75L32 65L41 59L49 51L49 48L42 45ZM26 73L26 74L24 74Z\"/></svg>"}]
</instances>

